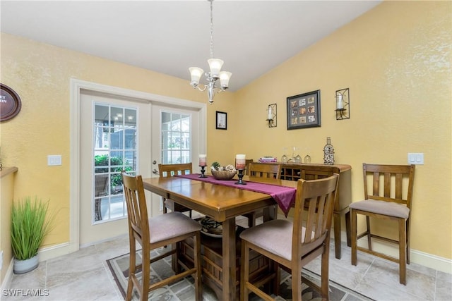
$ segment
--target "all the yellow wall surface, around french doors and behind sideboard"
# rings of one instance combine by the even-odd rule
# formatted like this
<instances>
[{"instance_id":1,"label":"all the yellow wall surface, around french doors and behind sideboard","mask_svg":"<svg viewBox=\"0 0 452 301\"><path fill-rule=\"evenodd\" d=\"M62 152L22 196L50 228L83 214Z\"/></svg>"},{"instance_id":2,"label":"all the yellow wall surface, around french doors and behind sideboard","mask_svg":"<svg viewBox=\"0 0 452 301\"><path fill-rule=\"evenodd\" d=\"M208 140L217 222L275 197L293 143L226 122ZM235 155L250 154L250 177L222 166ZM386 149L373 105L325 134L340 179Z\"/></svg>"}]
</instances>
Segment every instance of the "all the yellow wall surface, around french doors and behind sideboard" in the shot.
<instances>
[{"instance_id":1,"label":"all the yellow wall surface, around french doors and behind sideboard","mask_svg":"<svg viewBox=\"0 0 452 301\"><path fill-rule=\"evenodd\" d=\"M363 161L404 164L408 152L424 152L412 248L451 259L451 5L384 2L239 92L218 94L208 106L208 157L222 164L237 153L280 157L283 147L295 145L321 162L331 137L336 162L354 168L357 200ZM23 105L16 118L1 123L2 160L19 168L16 199L38 195L60 210L47 244L69 240L70 78L206 102L206 93L186 80L2 33L1 82ZM345 87L351 118L336 121L335 90ZM318 89L321 128L287 131L286 97ZM278 127L268 128L266 108L273 103ZM227 130L215 130L215 111L228 113ZM48 154L61 154L63 165L47 166Z\"/></svg>"}]
</instances>

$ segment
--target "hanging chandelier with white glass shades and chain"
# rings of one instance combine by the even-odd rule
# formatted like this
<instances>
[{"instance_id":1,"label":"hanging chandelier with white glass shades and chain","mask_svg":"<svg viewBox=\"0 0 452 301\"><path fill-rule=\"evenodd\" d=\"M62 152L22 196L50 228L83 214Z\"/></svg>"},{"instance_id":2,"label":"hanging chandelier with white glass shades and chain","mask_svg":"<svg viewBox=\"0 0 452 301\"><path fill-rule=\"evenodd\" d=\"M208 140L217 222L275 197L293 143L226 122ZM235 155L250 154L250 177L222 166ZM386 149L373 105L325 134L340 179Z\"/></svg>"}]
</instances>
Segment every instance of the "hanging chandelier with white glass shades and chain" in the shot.
<instances>
[{"instance_id":1,"label":"hanging chandelier with white glass shades and chain","mask_svg":"<svg viewBox=\"0 0 452 301\"><path fill-rule=\"evenodd\" d=\"M203 69L198 67L190 67L189 70L191 75L191 87L194 87L201 92L207 90L209 103L212 104L215 93L225 91L229 87L229 80L232 73L221 71L221 67L224 62L221 59L213 59L213 0L208 1L210 2L210 59L208 59L207 62L209 64L210 72L205 74L207 84L202 88L199 86L199 80L204 72ZM218 80L220 80L220 87L216 86Z\"/></svg>"}]
</instances>

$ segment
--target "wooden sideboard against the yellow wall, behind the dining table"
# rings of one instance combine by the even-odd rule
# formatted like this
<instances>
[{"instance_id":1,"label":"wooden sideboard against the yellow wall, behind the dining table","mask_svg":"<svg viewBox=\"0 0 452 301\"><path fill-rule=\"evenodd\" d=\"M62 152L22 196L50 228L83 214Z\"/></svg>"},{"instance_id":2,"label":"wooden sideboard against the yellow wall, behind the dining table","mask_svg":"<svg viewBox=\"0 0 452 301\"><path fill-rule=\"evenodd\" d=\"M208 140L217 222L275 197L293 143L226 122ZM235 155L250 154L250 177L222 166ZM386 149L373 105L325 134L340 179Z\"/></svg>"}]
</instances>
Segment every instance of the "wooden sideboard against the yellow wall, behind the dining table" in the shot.
<instances>
[{"instance_id":1,"label":"wooden sideboard against the yellow wall, behind the dining table","mask_svg":"<svg viewBox=\"0 0 452 301\"><path fill-rule=\"evenodd\" d=\"M258 164L279 164L279 163L258 163ZM339 177L339 197L334 207L334 245L335 257L340 259L340 216L345 216L345 226L347 233L347 245L350 247L350 209L348 205L352 202L352 166L346 164L324 165L324 164L281 164L282 180L315 180L327 178L333 173L338 173Z\"/></svg>"}]
</instances>

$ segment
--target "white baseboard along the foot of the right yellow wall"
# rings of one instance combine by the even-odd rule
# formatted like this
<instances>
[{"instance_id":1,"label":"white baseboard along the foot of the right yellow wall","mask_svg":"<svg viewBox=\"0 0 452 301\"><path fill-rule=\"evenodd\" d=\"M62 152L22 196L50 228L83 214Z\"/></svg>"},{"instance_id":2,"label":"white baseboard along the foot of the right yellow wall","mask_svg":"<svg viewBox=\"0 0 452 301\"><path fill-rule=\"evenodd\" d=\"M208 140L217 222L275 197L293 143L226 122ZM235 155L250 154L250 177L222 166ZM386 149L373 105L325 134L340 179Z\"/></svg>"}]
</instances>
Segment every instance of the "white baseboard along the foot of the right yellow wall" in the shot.
<instances>
[{"instance_id":1,"label":"white baseboard along the foot of the right yellow wall","mask_svg":"<svg viewBox=\"0 0 452 301\"><path fill-rule=\"evenodd\" d=\"M341 240L347 242L347 235L345 231L341 232ZM367 247L367 240L365 238L358 240L358 245L360 247ZM398 247L382 240L372 240L372 250L398 258ZM452 274L452 259L411 249L410 262L420 264L421 266L427 266L428 268L436 269L438 271L443 271L444 273Z\"/></svg>"}]
</instances>

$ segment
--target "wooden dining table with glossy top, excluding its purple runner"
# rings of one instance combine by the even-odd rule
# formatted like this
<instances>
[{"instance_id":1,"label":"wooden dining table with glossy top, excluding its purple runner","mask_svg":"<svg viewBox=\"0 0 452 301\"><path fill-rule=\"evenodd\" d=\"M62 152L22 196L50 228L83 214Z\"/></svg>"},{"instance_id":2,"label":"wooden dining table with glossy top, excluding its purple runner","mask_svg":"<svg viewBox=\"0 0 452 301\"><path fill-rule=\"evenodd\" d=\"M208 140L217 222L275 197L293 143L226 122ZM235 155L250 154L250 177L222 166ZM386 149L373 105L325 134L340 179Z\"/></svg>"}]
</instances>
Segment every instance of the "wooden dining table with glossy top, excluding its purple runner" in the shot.
<instances>
[{"instance_id":1,"label":"wooden dining table with glossy top, excluding its purple runner","mask_svg":"<svg viewBox=\"0 0 452 301\"><path fill-rule=\"evenodd\" d=\"M247 180L296 188L297 182L266 178ZM172 199L222 223L222 300L237 300L236 216L275 205L275 199L261 192L206 183L189 178L145 178L145 190ZM270 214L270 219L275 218Z\"/></svg>"}]
</instances>

